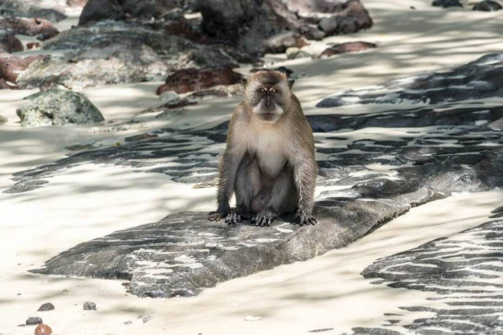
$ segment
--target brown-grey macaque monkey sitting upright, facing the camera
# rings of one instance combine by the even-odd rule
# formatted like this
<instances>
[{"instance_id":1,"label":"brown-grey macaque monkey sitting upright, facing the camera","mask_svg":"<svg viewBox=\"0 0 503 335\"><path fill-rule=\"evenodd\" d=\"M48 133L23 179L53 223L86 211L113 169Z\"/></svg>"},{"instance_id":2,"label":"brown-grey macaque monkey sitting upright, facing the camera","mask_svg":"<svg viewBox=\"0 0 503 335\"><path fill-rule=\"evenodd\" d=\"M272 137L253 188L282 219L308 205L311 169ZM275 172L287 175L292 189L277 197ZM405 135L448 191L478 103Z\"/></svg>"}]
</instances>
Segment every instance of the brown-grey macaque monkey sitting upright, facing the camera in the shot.
<instances>
[{"instance_id":1,"label":"brown-grey macaque monkey sitting upright, facing the camera","mask_svg":"<svg viewBox=\"0 0 503 335\"><path fill-rule=\"evenodd\" d=\"M244 218L269 227L296 211L300 226L317 223L312 215L318 170L314 136L291 91L293 83L284 72L269 69L252 72L243 82L244 98L230 119L219 162L217 210L210 221L225 218L235 225Z\"/></svg>"}]
</instances>

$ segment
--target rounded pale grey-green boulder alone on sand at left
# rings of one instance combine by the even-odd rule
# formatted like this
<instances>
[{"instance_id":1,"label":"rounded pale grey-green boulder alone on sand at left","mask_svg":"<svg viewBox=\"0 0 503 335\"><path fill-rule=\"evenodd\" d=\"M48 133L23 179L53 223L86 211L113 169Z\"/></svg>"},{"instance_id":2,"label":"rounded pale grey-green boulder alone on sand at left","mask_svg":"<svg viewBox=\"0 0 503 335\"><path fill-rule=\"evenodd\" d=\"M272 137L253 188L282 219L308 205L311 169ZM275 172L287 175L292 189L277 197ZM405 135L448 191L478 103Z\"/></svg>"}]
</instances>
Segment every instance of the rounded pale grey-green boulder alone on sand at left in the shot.
<instances>
[{"instance_id":1,"label":"rounded pale grey-green boulder alone on sand at left","mask_svg":"<svg viewBox=\"0 0 503 335\"><path fill-rule=\"evenodd\" d=\"M25 100L16 110L25 127L93 124L105 120L81 93L52 89L27 96Z\"/></svg>"}]
</instances>

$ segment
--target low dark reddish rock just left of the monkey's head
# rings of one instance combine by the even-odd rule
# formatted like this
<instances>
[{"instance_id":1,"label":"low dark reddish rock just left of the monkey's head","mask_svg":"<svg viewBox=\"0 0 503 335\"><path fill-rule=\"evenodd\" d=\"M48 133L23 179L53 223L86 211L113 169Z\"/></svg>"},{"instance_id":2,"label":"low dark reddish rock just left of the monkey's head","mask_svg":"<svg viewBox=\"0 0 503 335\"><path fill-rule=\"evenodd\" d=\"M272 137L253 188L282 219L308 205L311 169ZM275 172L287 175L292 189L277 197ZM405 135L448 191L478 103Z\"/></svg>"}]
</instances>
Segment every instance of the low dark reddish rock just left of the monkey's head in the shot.
<instances>
[{"instance_id":1,"label":"low dark reddish rock just left of the monkey's head","mask_svg":"<svg viewBox=\"0 0 503 335\"><path fill-rule=\"evenodd\" d=\"M231 68L221 69L183 69L175 71L166 78L166 82L157 88L157 94L165 91L186 93L205 89L215 85L230 85L240 82L242 76Z\"/></svg>"}]
</instances>

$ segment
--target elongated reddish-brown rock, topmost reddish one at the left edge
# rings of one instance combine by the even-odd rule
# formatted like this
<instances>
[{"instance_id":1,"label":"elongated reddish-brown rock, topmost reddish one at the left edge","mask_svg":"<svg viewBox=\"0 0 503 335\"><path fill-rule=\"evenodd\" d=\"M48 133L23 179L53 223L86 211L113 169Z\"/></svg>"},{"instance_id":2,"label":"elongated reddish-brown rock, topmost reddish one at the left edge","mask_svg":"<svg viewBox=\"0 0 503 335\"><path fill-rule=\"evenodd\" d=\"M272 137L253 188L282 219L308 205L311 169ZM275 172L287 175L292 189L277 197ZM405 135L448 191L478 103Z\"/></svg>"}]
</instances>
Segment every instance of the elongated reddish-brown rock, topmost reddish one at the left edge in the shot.
<instances>
[{"instance_id":1,"label":"elongated reddish-brown rock, topmost reddish one at the left edge","mask_svg":"<svg viewBox=\"0 0 503 335\"><path fill-rule=\"evenodd\" d=\"M37 36L37 39L41 41L54 37L59 33L52 23L39 18L3 18L0 19L0 29L15 34Z\"/></svg>"}]
</instances>

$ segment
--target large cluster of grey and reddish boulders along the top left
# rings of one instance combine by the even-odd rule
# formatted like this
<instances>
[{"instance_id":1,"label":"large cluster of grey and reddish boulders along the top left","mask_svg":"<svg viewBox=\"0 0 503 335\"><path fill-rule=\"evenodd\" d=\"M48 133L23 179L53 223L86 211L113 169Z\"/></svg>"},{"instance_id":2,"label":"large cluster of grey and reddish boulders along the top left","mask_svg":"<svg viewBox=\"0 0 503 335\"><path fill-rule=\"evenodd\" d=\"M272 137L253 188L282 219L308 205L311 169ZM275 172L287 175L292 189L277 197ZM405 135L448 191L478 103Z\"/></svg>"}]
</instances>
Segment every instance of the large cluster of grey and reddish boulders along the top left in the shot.
<instances>
[{"instance_id":1,"label":"large cluster of grey and reddish boulders along the top left","mask_svg":"<svg viewBox=\"0 0 503 335\"><path fill-rule=\"evenodd\" d=\"M201 16L186 15L194 12ZM45 19L0 20L0 28L48 39L41 46L43 56L10 59L8 67L16 70L0 77L22 88L80 89L146 81L178 70L190 72L194 81L210 70L218 72L213 84L228 84L229 69L265 52L285 52L306 45L306 39L371 26L359 0L90 0L78 26L59 34Z\"/></svg>"}]
</instances>

